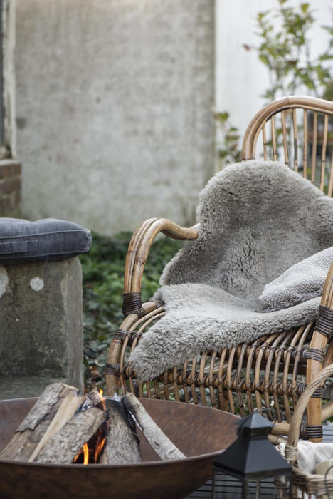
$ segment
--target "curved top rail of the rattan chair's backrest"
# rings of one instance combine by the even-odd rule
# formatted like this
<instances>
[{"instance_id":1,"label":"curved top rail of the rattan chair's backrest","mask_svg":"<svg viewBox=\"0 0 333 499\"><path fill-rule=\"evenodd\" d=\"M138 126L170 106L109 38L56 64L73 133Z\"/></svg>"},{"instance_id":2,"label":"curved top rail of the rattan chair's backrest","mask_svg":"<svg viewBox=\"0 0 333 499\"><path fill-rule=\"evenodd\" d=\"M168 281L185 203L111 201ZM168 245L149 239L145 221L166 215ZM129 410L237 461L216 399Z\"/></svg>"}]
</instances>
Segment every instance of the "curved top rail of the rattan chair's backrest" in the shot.
<instances>
[{"instance_id":1,"label":"curved top rail of the rattan chair's backrest","mask_svg":"<svg viewBox=\"0 0 333 499\"><path fill-rule=\"evenodd\" d=\"M266 121L282 110L292 108L303 108L327 114L333 114L333 102L325 101L317 97L288 96L281 97L269 103L260 110L245 130L242 146L242 160L255 159L255 145L258 140L260 130L263 129Z\"/></svg>"}]
</instances>

